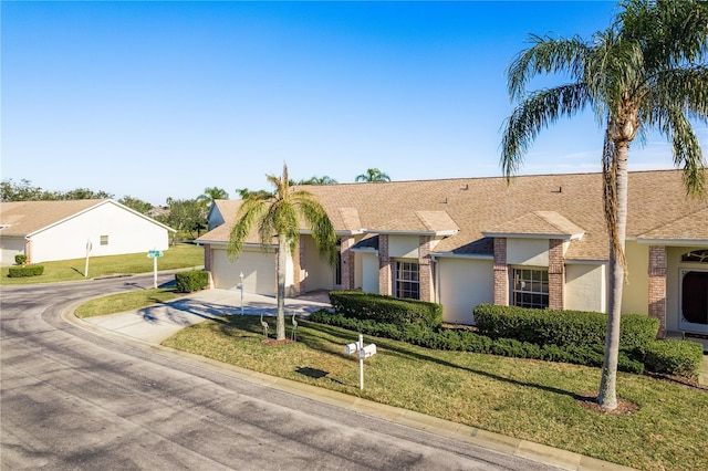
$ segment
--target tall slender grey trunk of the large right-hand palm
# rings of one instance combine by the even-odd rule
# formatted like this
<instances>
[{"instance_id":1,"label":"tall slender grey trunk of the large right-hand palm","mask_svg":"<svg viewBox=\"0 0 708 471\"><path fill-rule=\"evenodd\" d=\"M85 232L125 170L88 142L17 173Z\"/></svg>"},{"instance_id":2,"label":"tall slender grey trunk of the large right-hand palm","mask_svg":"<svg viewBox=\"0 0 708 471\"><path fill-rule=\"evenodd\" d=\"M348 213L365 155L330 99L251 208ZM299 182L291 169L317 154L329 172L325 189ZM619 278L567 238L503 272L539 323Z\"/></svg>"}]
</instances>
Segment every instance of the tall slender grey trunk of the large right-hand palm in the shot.
<instances>
[{"instance_id":1,"label":"tall slender grey trunk of the large right-hand palm","mask_svg":"<svg viewBox=\"0 0 708 471\"><path fill-rule=\"evenodd\" d=\"M597 394L597 404L613 410L617 407L617 358L620 356L620 321L622 316L622 292L624 287L624 242L627 228L627 155L628 144L615 143L615 191L616 227L615 237L610 242L610 307L607 312L607 333L605 337L605 359ZM621 252L618 252L621 251Z\"/></svg>"}]
</instances>

